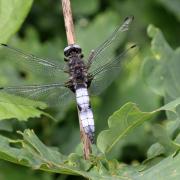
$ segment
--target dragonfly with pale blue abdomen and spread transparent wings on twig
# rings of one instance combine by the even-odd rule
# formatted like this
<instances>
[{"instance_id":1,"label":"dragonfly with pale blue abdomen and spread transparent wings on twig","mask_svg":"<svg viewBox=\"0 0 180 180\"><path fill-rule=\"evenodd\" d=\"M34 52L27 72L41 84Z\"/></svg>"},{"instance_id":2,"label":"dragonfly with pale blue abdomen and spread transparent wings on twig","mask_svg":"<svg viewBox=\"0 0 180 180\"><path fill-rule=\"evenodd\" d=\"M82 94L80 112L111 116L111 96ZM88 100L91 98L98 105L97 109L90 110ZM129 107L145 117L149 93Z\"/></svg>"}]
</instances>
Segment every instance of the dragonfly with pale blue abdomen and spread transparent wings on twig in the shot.
<instances>
[{"instance_id":1,"label":"dragonfly with pale blue abdomen and spread transparent wings on twig","mask_svg":"<svg viewBox=\"0 0 180 180\"><path fill-rule=\"evenodd\" d=\"M0 91L12 93L18 96L27 97L34 100L41 100L47 103L54 103L55 100L62 102L66 98L76 99L79 110L79 117L84 132L91 143L95 142L94 116L90 103L89 94L99 94L108 87L119 73L124 56L136 45L124 50L118 56L113 57L107 51L119 40L121 33L127 31L133 21L133 16L126 17L122 25L112 33L100 46L92 50L89 58L84 60L82 49L77 44L68 45L64 49L64 61L66 65L50 59L44 59L32 54L25 53L7 44L0 44L2 51L18 56L22 62L27 63L31 70L45 72L47 76L56 76L58 82L0 87ZM60 77L66 74L66 79Z\"/></svg>"}]
</instances>

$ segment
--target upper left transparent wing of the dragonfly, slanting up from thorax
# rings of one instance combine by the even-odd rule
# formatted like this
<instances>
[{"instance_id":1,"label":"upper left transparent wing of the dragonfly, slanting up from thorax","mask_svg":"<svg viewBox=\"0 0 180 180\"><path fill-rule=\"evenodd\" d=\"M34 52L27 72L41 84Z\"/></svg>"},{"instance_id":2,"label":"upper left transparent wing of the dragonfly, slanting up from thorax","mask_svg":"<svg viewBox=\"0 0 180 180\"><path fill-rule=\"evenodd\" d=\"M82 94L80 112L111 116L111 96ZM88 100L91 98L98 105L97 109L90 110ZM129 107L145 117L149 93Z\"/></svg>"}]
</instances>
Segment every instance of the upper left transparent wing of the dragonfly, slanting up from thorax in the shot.
<instances>
[{"instance_id":1,"label":"upper left transparent wing of the dragonfly, slanting up from thorax","mask_svg":"<svg viewBox=\"0 0 180 180\"><path fill-rule=\"evenodd\" d=\"M41 76L44 79L46 77L46 81L50 82L64 82L67 79L63 63L28 54L6 44L0 44L0 54L5 60L14 63L20 72Z\"/></svg>"}]
</instances>

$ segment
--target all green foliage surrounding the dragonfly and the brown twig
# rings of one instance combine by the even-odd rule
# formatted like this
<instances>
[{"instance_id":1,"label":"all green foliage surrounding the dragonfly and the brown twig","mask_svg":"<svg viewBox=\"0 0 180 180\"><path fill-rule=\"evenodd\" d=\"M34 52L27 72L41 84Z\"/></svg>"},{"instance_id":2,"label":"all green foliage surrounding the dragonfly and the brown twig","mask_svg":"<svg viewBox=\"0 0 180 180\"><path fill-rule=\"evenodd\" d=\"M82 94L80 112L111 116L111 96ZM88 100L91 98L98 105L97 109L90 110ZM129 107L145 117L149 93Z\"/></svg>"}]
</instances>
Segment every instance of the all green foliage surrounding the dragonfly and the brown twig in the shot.
<instances>
[{"instance_id":1,"label":"all green foliage surrounding the dragonfly and the brown twig","mask_svg":"<svg viewBox=\"0 0 180 180\"><path fill-rule=\"evenodd\" d=\"M31 5L0 0L0 42L62 61L66 36L59 1ZM97 145L89 160L83 159L72 101L45 112L43 102L1 93L0 179L179 179L179 8L177 0L73 1L85 57L129 14L135 21L121 47L136 42L140 50L102 95L91 98ZM0 63L1 86L49 81L3 53Z\"/></svg>"}]
</instances>

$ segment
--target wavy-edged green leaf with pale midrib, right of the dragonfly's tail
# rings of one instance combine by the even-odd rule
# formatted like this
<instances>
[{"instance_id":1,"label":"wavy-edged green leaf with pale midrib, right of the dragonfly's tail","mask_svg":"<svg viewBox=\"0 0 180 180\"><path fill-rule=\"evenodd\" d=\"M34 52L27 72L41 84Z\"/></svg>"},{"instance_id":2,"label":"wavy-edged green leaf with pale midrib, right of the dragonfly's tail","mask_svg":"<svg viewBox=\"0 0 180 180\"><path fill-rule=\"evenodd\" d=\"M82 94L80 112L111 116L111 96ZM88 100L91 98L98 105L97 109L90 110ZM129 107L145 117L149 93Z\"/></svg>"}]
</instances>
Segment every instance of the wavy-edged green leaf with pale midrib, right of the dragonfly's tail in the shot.
<instances>
[{"instance_id":1,"label":"wavy-edged green leaf with pale midrib, right of the dragonfly's tail","mask_svg":"<svg viewBox=\"0 0 180 180\"><path fill-rule=\"evenodd\" d=\"M109 129L99 134L97 138L98 147L103 153L110 152L117 142L127 136L135 127L143 124L161 110L174 111L179 104L180 98L152 112L142 112L133 103L125 104L109 117Z\"/></svg>"}]
</instances>

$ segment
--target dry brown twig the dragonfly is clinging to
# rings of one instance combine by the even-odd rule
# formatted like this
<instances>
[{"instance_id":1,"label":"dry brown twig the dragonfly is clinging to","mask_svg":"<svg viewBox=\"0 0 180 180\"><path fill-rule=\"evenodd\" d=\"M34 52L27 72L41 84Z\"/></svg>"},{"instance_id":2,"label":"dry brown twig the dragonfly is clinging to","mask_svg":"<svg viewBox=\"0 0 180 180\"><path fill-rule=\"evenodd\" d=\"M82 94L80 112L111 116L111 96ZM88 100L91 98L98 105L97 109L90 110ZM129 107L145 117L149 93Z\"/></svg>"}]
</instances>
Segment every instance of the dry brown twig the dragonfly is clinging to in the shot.
<instances>
[{"instance_id":1,"label":"dry brown twig the dragonfly is clinging to","mask_svg":"<svg viewBox=\"0 0 180 180\"><path fill-rule=\"evenodd\" d=\"M64 16L68 45L75 44L74 25L73 25L70 0L62 0L62 8L63 8L63 16ZM78 117L79 117L81 141L83 144L84 158L89 159L89 155L91 153L91 141L88 138L87 134L84 132L81 119L79 116L79 109L77 108L77 110L78 110Z\"/></svg>"}]
</instances>

